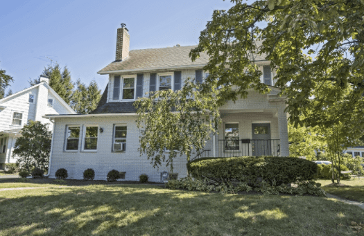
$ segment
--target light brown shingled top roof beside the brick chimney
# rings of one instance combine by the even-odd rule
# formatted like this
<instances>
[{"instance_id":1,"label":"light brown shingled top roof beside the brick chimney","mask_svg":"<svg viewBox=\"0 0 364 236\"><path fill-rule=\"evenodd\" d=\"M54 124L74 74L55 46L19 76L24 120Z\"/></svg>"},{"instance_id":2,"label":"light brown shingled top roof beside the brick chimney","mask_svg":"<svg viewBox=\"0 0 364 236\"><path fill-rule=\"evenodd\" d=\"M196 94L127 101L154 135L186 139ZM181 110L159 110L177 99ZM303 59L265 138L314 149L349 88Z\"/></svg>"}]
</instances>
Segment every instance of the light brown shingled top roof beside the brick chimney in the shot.
<instances>
[{"instance_id":1,"label":"light brown shingled top roof beside the brick chimney","mask_svg":"<svg viewBox=\"0 0 364 236\"><path fill-rule=\"evenodd\" d=\"M257 47L261 46L260 41L257 41L256 44ZM200 57L195 62L192 62L189 52L196 47L197 45L132 50L129 52L129 57L125 60L108 64L101 71L98 71L98 74L202 68L209 62L209 55L207 53L200 53ZM266 55L255 55L254 60L266 61Z\"/></svg>"}]
</instances>

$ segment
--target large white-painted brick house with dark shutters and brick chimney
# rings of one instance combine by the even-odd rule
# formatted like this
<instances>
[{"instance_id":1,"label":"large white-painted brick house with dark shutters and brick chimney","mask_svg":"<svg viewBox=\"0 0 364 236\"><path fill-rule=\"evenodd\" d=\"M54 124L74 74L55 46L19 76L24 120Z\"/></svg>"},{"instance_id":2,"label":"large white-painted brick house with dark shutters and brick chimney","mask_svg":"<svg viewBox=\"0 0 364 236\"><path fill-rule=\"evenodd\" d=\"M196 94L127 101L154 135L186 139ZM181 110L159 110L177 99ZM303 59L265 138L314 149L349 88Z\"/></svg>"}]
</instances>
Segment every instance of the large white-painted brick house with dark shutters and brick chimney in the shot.
<instances>
[{"instance_id":1,"label":"large white-painted brick house with dark shutters and brick chimney","mask_svg":"<svg viewBox=\"0 0 364 236\"><path fill-rule=\"evenodd\" d=\"M186 78L203 80L202 68L209 57L202 54L191 62L189 52L196 46L173 46L129 51L130 35L122 24L117 29L116 60L98 71L109 75L108 84L98 107L86 115L47 115L55 122L50 177L59 168L68 171L70 179L82 179L87 168L95 179L106 179L112 169L125 172L125 180L137 181L148 174L149 181L161 181L169 167L153 168L145 155L140 156L137 98L149 91L180 89ZM227 102L220 107L223 124L219 134L207 140L201 156L288 156L288 129L285 98L272 86L272 72L265 55L257 56L263 70L261 82L269 84L269 94L250 91L247 99ZM166 150L168 152L168 150ZM199 158L201 156L192 156ZM187 176L187 158L173 161L178 179Z\"/></svg>"}]
</instances>

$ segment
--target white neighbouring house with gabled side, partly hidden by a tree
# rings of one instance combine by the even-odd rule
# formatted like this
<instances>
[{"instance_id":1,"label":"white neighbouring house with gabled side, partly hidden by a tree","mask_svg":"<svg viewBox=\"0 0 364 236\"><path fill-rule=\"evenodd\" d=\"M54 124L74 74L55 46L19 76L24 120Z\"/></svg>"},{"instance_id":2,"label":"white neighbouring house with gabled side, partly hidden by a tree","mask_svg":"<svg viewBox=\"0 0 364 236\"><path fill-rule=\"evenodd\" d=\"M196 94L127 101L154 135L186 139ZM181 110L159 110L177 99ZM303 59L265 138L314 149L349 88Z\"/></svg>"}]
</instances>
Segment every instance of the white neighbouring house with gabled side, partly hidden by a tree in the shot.
<instances>
[{"instance_id":1,"label":"white neighbouring house with gabled side, partly hidden by a tree","mask_svg":"<svg viewBox=\"0 0 364 236\"><path fill-rule=\"evenodd\" d=\"M12 156L15 140L21 136L21 128L28 120L53 123L43 118L45 114L76 114L49 86L49 79L42 76L40 83L0 100L0 169L7 163L15 163Z\"/></svg>"}]
</instances>

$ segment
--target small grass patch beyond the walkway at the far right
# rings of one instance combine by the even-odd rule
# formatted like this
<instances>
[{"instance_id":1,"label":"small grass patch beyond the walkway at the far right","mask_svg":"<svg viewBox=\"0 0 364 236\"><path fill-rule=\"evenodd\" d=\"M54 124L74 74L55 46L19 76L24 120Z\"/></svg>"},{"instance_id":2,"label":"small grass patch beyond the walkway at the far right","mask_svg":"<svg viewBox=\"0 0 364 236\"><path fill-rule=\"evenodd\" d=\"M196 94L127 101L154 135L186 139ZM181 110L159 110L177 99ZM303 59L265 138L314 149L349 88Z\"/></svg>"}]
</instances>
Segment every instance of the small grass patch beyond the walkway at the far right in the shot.
<instances>
[{"instance_id":1,"label":"small grass patch beyond the walkway at the far right","mask_svg":"<svg viewBox=\"0 0 364 236\"><path fill-rule=\"evenodd\" d=\"M340 183L348 185L349 187L325 187L325 185L332 183L331 180L319 180L316 182L321 183L322 189L326 192L342 197L343 199L364 202L364 177L361 177L361 179L355 178L348 181L340 181Z\"/></svg>"}]
</instances>

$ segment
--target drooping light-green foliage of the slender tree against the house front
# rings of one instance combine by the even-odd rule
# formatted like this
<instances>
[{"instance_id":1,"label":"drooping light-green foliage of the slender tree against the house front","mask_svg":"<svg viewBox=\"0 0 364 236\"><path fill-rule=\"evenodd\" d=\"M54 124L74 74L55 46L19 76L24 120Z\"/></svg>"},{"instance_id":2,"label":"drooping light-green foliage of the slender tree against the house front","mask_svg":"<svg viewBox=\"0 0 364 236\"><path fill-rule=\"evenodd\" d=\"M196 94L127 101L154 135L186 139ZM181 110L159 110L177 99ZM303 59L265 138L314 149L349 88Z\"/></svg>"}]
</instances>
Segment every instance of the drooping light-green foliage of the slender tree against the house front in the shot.
<instances>
[{"instance_id":1,"label":"drooping light-green foliage of the slender tree against the house front","mask_svg":"<svg viewBox=\"0 0 364 236\"><path fill-rule=\"evenodd\" d=\"M208 96L202 96L199 86L188 78L178 91L156 91L137 100L140 154L145 153L153 167L166 161L173 170L178 152L180 156L185 154L187 160L192 150L203 152L205 140L216 133L221 122L215 97L214 88L209 89ZM170 150L168 154L166 149Z\"/></svg>"}]
</instances>

